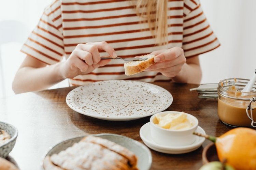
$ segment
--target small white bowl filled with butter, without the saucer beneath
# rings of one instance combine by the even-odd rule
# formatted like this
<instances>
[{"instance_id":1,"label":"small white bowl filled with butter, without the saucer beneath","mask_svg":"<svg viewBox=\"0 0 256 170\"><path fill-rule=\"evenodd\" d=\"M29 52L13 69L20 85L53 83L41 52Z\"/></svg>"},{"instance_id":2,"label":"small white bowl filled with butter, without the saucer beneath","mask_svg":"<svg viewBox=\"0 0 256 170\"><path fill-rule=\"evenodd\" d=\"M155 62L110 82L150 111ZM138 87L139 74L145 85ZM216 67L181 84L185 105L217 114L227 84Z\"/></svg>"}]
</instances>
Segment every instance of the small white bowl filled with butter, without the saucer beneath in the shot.
<instances>
[{"instance_id":1,"label":"small white bowl filled with butter, without the saucer beneath","mask_svg":"<svg viewBox=\"0 0 256 170\"><path fill-rule=\"evenodd\" d=\"M197 118L184 112L159 112L150 118L152 140L164 146L192 144L196 140L193 132L195 132L197 126Z\"/></svg>"}]
</instances>

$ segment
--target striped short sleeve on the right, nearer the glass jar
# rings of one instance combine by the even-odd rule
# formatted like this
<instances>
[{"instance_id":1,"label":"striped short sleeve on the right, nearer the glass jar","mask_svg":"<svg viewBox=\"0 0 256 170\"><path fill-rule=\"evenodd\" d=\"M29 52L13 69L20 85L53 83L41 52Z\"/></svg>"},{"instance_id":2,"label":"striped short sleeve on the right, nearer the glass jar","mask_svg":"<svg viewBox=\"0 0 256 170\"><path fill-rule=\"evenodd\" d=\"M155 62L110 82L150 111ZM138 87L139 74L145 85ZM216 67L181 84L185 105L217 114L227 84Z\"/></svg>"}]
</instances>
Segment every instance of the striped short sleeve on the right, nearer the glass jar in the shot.
<instances>
[{"instance_id":1,"label":"striped short sleeve on the right, nearer the glass jar","mask_svg":"<svg viewBox=\"0 0 256 170\"><path fill-rule=\"evenodd\" d=\"M182 48L186 57L193 57L220 46L199 0L184 0Z\"/></svg>"}]
</instances>

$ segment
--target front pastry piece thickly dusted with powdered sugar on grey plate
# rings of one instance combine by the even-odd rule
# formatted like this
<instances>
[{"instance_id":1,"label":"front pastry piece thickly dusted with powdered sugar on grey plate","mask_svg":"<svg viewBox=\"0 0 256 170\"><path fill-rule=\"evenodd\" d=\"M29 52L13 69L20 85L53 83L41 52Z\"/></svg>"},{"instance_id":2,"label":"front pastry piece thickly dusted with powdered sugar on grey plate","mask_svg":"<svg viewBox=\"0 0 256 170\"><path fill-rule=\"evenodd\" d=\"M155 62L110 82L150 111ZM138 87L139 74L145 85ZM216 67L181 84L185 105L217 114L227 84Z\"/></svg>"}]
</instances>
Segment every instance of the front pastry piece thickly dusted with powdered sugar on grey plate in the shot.
<instances>
[{"instance_id":1,"label":"front pastry piece thickly dusted with powdered sugar on grey plate","mask_svg":"<svg viewBox=\"0 0 256 170\"><path fill-rule=\"evenodd\" d=\"M123 164L127 164L128 162L123 156L101 145L85 141L75 143L67 150L52 155L51 161L55 165L68 170L111 169L115 165L115 162L121 162Z\"/></svg>"}]
</instances>

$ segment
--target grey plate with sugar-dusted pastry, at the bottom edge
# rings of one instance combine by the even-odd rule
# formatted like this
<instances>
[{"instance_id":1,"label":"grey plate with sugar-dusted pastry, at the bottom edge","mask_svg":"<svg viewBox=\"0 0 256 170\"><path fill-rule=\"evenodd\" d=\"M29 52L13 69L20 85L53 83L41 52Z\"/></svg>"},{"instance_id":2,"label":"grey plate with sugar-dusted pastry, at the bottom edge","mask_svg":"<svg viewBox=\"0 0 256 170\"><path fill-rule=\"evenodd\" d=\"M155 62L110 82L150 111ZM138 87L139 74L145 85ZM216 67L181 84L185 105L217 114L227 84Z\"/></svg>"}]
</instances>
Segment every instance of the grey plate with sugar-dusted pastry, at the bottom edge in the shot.
<instances>
[{"instance_id":1,"label":"grey plate with sugar-dusted pastry, at the bottom edge","mask_svg":"<svg viewBox=\"0 0 256 170\"><path fill-rule=\"evenodd\" d=\"M43 159L44 170L148 170L150 150L141 142L116 134L76 137L53 146Z\"/></svg>"}]
</instances>

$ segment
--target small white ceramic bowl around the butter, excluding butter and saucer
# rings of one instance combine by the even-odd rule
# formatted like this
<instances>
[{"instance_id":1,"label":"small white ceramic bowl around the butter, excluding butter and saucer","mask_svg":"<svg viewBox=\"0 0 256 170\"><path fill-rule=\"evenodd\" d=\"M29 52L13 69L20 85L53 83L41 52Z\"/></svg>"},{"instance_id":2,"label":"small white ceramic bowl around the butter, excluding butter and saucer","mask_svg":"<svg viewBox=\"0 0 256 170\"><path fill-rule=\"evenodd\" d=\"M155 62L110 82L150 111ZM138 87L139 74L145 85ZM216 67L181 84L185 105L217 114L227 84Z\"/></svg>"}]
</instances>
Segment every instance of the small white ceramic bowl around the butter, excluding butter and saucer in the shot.
<instances>
[{"instance_id":1,"label":"small white ceramic bowl around the butter, excluding butter and saucer","mask_svg":"<svg viewBox=\"0 0 256 170\"><path fill-rule=\"evenodd\" d=\"M186 146L192 144L196 140L196 135L193 135L193 132L196 131L198 126L198 120L191 114L185 113L187 119L190 122L193 122L193 126L185 130L170 130L159 127L156 123L156 115L161 114L162 116L171 113L171 114L180 114L179 111L165 111L159 112L150 118L150 131L151 138L154 142L164 146Z\"/></svg>"}]
</instances>

